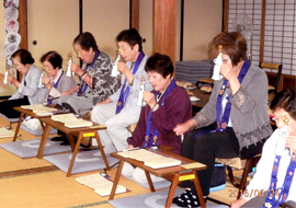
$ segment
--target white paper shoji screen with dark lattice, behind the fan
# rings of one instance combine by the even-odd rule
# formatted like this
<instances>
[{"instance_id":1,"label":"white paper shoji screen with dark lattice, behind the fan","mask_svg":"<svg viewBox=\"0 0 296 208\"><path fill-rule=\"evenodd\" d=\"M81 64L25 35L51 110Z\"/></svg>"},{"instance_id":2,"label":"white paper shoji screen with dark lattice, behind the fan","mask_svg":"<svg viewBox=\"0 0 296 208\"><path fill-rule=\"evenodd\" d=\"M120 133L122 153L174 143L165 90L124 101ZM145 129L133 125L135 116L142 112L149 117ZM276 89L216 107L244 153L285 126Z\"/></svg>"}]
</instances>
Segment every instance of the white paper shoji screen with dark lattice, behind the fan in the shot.
<instances>
[{"instance_id":1,"label":"white paper shoji screen with dark lattice, behind the fan","mask_svg":"<svg viewBox=\"0 0 296 208\"><path fill-rule=\"evenodd\" d=\"M283 63L283 73L296 76L296 0L229 0L229 31L238 13L252 20L252 62L259 65L262 47L263 61ZM261 28L264 28L262 46Z\"/></svg>"}]
</instances>

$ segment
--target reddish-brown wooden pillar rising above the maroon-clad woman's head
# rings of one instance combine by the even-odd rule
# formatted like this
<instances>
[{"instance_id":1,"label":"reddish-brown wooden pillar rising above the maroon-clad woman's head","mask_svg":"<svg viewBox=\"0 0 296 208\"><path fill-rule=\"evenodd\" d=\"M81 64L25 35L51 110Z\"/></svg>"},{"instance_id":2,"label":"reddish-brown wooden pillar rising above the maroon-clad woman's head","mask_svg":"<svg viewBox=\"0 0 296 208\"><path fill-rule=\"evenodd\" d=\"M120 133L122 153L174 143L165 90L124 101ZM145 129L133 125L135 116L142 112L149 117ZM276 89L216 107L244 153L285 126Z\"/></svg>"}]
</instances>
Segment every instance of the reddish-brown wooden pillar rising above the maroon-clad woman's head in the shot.
<instances>
[{"instance_id":1,"label":"reddish-brown wooden pillar rising above the maroon-clad woman's head","mask_svg":"<svg viewBox=\"0 0 296 208\"><path fill-rule=\"evenodd\" d=\"M153 53L166 54L175 62L177 0L155 0Z\"/></svg>"}]
</instances>

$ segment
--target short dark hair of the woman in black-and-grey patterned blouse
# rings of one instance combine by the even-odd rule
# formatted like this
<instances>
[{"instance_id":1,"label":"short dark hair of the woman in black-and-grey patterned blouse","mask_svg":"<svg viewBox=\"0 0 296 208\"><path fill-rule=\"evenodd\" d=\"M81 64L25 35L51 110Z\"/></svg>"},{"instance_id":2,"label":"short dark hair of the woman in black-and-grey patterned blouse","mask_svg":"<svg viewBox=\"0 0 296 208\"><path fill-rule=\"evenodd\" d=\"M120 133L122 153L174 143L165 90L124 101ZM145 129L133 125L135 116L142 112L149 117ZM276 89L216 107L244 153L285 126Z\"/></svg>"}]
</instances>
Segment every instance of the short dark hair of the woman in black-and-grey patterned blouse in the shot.
<instances>
[{"instance_id":1,"label":"short dark hair of the woman in black-and-grey patterned blouse","mask_svg":"<svg viewBox=\"0 0 296 208\"><path fill-rule=\"evenodd\" d=\"M81 48L86 51L89 51L90 48L93 51L99 50L94 36L90 32L80 33L75 39L73 45L79 44Z\"/></svg>"}]
</instances>

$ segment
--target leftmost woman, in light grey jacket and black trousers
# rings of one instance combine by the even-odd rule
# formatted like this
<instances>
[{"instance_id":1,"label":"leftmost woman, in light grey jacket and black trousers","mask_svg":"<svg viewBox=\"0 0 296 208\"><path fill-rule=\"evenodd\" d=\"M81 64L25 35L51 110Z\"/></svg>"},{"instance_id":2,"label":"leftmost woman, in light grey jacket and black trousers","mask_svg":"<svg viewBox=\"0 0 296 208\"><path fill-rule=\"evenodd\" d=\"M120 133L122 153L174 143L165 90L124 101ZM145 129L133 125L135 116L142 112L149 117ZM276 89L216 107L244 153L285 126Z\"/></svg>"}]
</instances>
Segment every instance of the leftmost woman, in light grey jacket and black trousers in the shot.
<instances>
[{"instance_id":1,"label":"leftmost woman, in light grey jacket and black trousers","mask_svg":"<svg viewBox=\"0 0 296 208\"><path fill-rule=\"evenodd\" d=\"M15 69L22 74L22 81L19 82L14 77L8 76L8 82L15 85L18 90L8 101L0 102L0 113L8 118L18 118L21 113L13 107L42 104L48 90L38 88L42 70L33 65L35 60L30 51L19 49L11 55L11 58Z\"/></svg>"}]
</instances>

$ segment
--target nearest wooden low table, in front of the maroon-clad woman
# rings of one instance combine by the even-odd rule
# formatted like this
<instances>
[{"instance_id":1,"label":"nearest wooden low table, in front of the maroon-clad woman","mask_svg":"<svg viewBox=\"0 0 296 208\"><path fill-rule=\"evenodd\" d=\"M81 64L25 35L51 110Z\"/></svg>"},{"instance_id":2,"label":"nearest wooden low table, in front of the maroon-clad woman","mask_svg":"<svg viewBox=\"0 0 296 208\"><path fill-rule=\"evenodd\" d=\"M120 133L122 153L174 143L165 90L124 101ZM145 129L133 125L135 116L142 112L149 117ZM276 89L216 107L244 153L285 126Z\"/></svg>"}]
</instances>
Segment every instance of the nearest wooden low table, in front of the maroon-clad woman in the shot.
<instances>
[{"instance_id":1,"label":"nearest wooden low table, in front of the maroon-clad woman","mask_svg":"<svg viewBox=\"0 0 296 208\"><path fill-rule=\"evenodd\" d=\"M127 163L135 165L135 166L138 166L145 171L145 174L146 174L146 177L147 177L147 181L148 181L148 184L149 184L151 192L155 192L155 187L153 187L153 184L152 184L152 181L151 181L149 173L151 173L156 176L166 177L172 182L170 190L169 190L169 195L167 198L166 207L171 206L172 199L173 199L173 196L175 193L175 188L177 188L178 184L181 183L182 181L193 181L194 182L201 206L206 207L205 201L204 201L204 197L203 197L203 193L201 189L200 181L198 181L198 177L196 174L196 171L205 170L206 165L201 164L201 166L192 167L192 169L184 169L181 165L169 166L169 167L163 167L163 169L151 169L149 166L144 165L144 162L140 162L140 161L137 161L134 159L129 159L129 158L124 158L124 157L119 155L118 152L113 152L113 153L111 153L111 155L119 159L121 162L119 162L119 165L117 167L114 184L113 184L113 187L112 187L112 190L110 194L110 198L109 198L110 200L114 198L115 190L116 190L119 177L121 177L123 164L124 164L124 162L127 162ZM195 161L189 160L186 158L183 158L181 155L174 154L174 153L166 151L166 150L161 151L161 155L166 155L166 157L181 160L182 164L196 163Z\"/></svg>"}]
</instances>

